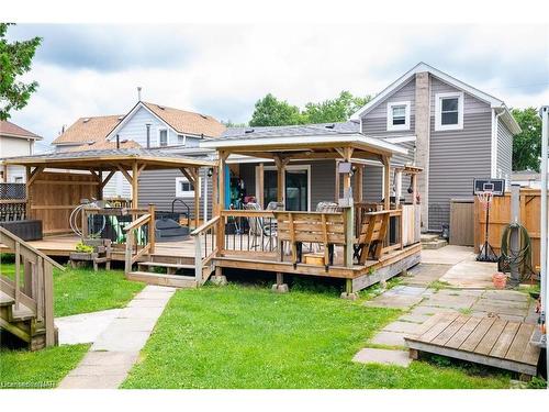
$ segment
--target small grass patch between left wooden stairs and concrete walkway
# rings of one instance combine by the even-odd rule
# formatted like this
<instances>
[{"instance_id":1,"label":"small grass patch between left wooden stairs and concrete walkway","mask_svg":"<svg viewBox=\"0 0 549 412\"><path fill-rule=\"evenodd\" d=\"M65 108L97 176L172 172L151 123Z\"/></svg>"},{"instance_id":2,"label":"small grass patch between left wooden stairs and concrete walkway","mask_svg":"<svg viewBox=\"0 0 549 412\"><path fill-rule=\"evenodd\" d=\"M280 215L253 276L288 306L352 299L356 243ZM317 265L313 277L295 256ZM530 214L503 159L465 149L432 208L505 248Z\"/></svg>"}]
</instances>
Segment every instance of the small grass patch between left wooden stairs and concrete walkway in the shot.
<instances>
[{"instance_id":1,"label":"small grass patch between left wooden stairs and concrete walkway","mask_svg":"<svg viewBox=\"0 0 549 412\"><path fill-rule=\"evenodd\" d=\"M2 260L10 259L2 255ZM0 272L13 278L14 264L1 263ZM145 287L124 278L122 270L54 270L54 312L56 316L123 308Z\"/></svg>"}]
</instances>

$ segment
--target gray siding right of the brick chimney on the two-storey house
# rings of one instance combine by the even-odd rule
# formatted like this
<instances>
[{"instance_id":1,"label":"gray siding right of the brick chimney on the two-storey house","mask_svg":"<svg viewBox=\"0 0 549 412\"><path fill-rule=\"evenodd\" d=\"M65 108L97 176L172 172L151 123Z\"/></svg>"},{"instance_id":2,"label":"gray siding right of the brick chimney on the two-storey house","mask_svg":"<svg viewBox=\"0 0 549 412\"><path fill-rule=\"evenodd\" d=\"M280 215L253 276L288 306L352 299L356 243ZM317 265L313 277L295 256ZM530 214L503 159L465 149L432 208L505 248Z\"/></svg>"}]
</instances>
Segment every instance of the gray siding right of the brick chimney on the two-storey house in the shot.
<instances>
[{"instance_id":1,"label":"gray siding right of the brick chimney on the two-storey house","mask_svg":"<svg viewBox=\"0 0 549 412\"><path fill-rule=\"evenodd\" d=\"M450 222L450 200L472 198L474 178L490 177L492 111L488 103L463 93L463 129L435 131L437 93L459 91L430 76L429 230Z\"/></svg>"}]
</instances>

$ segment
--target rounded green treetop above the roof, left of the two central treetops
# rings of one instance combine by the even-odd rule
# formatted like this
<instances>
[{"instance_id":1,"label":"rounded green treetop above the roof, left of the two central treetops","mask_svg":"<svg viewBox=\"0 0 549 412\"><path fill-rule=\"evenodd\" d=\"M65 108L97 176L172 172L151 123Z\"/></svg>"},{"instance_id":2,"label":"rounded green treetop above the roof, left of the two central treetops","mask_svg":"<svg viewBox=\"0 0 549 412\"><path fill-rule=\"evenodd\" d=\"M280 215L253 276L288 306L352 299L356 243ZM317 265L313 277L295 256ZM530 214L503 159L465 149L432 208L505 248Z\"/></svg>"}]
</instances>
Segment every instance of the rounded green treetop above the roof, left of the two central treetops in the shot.
<instances>
[{"instance_id":1,"label":"rounded green treetop above the roof, left of the two central treetops","mask_svg":"<svg viewBox=\"0 0 549 412\"><path fill-rule=\"evenodd\" d=\"M296 105L291 105L285 100L278 100L271 93L256 102L256 109L249 121L250 126L283 126L302 123L305 123L305 119Z\"/></svg>"}]
</instances>

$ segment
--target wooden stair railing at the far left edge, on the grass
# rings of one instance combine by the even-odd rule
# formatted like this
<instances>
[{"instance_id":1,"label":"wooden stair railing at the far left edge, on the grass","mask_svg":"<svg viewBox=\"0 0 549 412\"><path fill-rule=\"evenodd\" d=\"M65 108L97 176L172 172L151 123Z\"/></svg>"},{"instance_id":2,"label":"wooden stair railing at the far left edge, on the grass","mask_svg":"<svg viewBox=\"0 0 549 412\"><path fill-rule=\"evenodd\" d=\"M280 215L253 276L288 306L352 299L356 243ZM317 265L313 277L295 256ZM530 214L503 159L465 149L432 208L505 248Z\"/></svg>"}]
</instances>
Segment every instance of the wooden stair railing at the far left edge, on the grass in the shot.
<instances>
[{"instance_id":1,"label":"wooden stair railing at the far left edge, on the grass","mask_svg":"<svg viewBox=\"0 0 549 412\"><path fill-rule=\"evenodd\" d=\"M15 255L15 274L11 280L0 277L1 290L13 298L15 309L21 304L36 316L35 329L44 327L46 346L55 344L53 268L63 266L36 250L29 243L0 226L0 243ZM23 272L23 279L21 279ZM30 339L31 336L27 336Z\"/></svg>"}]
</instances>

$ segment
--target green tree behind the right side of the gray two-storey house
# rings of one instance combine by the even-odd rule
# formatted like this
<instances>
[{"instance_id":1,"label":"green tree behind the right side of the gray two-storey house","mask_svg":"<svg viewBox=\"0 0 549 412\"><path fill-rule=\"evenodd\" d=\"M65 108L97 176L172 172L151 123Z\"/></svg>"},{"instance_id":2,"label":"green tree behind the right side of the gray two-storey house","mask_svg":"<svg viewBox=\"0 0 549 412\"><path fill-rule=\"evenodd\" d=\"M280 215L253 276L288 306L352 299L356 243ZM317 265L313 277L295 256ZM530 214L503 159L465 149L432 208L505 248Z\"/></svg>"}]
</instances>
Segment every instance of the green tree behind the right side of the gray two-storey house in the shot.
<instances>
[{"instance_id":1,"label":"green tree behind the right side of the gray two-storey house","mask_svg":"<svg viewBox=\"0 0 549 412\"><path fill-rule=\"evenodd\" d=\"M513 109L513 116L523 130L513 137L513 170L539 171L541 157L541 119L534 108Z\"/></svg>"}]
</instances>

